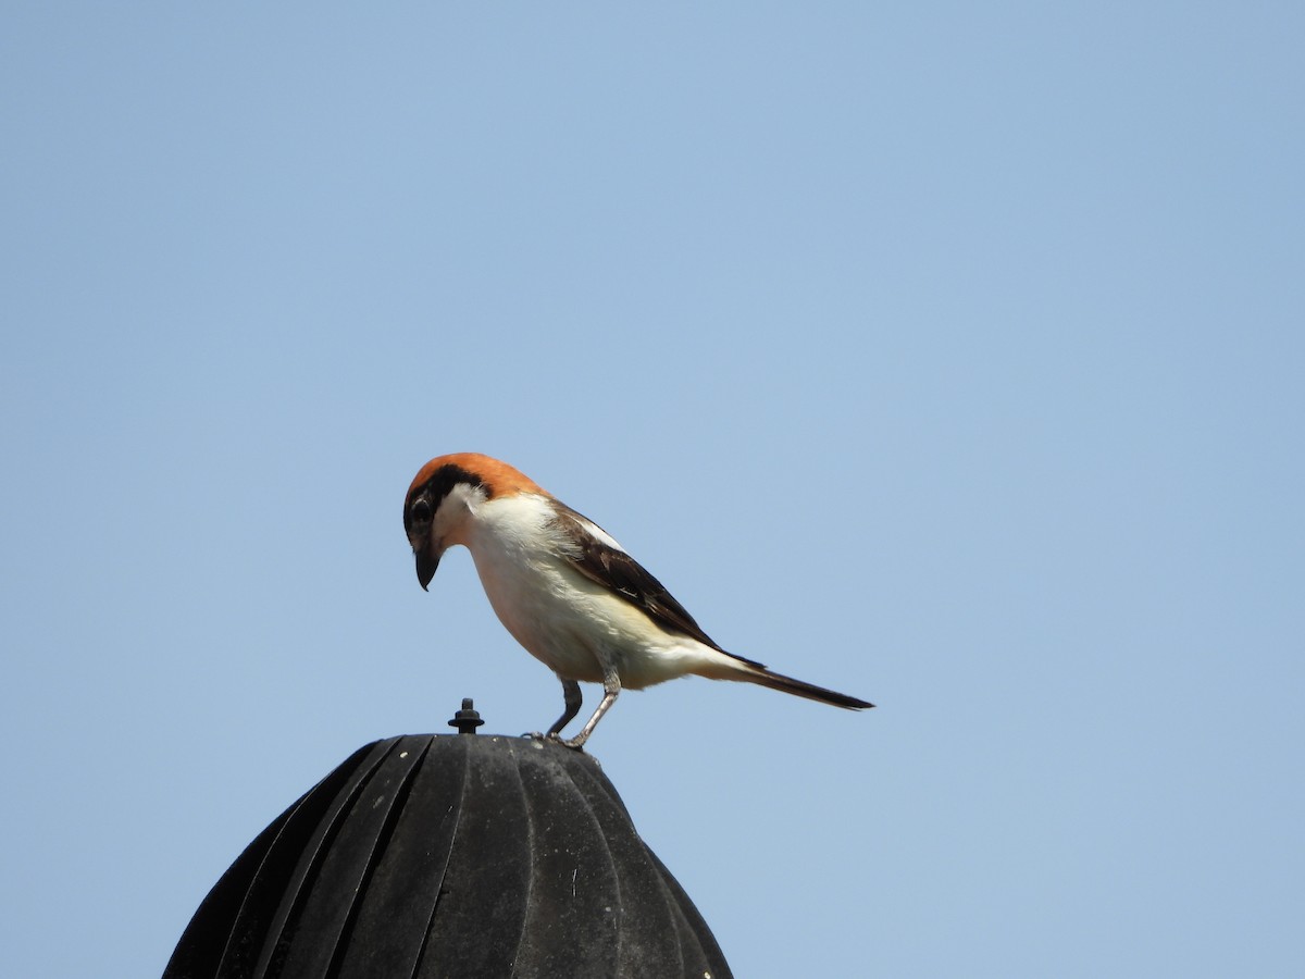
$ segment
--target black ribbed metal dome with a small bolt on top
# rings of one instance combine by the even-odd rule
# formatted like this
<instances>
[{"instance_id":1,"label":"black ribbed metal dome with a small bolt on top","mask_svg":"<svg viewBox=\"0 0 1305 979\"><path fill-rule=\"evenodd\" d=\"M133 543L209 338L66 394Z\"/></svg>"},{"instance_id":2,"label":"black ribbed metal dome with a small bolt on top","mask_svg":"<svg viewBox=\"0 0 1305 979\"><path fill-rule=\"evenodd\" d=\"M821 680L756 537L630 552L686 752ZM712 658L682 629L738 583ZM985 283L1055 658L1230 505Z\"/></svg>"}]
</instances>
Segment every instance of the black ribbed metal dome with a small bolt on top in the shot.
<instances>
[{"instance_id":1,"label":"black ribbed metal dome with a small bolt on top","mask_svg":"<svg viewBox=\"0 0 1305 979\"><path fill-rule=\"evenodd\" d=\"M474 731L471 714L459 730ZM722 979L729 967L592 757L410 735L360 748L268 826L163 975Z\"/></svg>"}]
</instances>

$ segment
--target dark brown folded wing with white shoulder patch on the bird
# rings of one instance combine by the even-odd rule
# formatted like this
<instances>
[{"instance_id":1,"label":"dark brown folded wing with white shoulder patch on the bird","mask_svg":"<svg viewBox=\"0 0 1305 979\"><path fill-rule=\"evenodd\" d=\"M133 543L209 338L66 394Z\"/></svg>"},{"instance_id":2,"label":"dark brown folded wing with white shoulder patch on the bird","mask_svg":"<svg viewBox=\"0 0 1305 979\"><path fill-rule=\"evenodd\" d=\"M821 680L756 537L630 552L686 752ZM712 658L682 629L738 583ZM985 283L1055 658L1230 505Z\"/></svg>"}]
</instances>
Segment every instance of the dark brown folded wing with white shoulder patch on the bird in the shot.
<instances>
[{"instance_id":1,"label":"dark brown folded wing with white shoulder patch on the bird","mask_svg":"<svg viewBox=\"0 0 1305 979\"><path fill-rule=\"evenodd\" d=\"M654 578L642 564L625 553L616 540L594 521L565 504L555 501L553 506L559 527L576 544L576 550L570 555L576 570L641 608L663 629L684 633L727 657L761 667L761 663L720 649L685 611L684 606L675 600L675 595L667 591L662 582Z\"/></svg>"}]
</instances>

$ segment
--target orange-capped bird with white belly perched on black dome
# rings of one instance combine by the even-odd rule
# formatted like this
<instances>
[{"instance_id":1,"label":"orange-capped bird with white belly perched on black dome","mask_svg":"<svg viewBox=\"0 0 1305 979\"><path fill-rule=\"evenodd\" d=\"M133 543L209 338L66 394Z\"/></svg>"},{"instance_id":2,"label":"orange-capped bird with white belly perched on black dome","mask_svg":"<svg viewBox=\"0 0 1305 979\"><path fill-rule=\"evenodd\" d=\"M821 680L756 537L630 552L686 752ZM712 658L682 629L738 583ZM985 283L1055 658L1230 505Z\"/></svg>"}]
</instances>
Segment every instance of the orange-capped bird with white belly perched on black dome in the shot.
<instances>
[{"instance_id":1,"label":"orange-capped bird with white belly perched on black dome","mask_svg":"<svg viewBox=\"0 0 1305 979\"><path fill-rule=\"evenodd\" d=\"M689 675L848 710L874 706L727 653L611 534L489 456L453 453L422 466L403 501L403 530L424 590L444 552L466 547L499 620L561 680L562 715L538 739L582 749L622 689ZM581 681L603 684L603 700L564 739L583 702Z\"/></svg>"}]
</instances>

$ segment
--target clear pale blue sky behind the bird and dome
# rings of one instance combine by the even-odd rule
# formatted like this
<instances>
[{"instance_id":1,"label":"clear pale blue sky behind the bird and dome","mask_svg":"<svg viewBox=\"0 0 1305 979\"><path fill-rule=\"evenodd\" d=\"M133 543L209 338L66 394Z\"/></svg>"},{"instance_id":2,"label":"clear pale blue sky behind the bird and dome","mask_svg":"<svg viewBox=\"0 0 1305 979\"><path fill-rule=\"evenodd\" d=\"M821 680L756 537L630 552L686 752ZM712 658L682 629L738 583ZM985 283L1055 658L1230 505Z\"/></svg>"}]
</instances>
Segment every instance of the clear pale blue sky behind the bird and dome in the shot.
<instances>
[{"instance_id":1,"label":"clear pale blue sky behind the bird and dome","mask_svg":"<svg viewBox=\"0 0 1305 979\"><path fill-rule=\"evenodd\" d=\"M740 976L1287 976L1298 4L10 4L13 976L157 975L360 744L560 688L429 457L723 645L591 741ZM594 689L589 688L589 702Z\"/></svg>"}]
</instances>

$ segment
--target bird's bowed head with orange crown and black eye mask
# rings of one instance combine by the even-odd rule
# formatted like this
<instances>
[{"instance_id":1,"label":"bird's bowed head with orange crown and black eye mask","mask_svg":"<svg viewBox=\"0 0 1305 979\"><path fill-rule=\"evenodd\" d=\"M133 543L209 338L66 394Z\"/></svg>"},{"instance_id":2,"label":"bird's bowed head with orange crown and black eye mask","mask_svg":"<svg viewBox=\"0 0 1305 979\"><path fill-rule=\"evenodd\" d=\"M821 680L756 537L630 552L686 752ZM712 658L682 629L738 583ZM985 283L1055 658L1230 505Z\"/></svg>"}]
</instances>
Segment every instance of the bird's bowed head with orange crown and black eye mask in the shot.
<instances>
[{"instance_id":1,"label":"bird's bowed head with orange crown and black eye mask","mask_svg":"<svg viewBox=\"0 0 1305 979\"><path fill-rule=\"evenodd\" d=\"M478 506L518 492L544 493L506 462L475 452L438 456L422 466L403 501L403 531L422 587L431 583L449 547L468 543Z\"/></svg>"}]
</instances>

